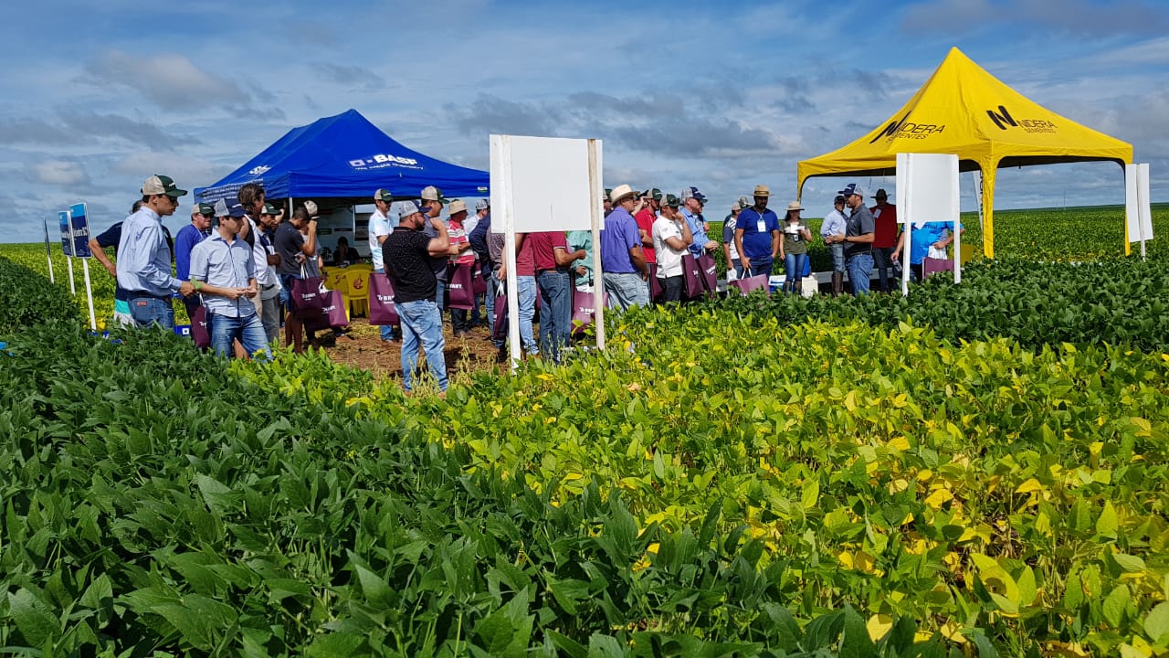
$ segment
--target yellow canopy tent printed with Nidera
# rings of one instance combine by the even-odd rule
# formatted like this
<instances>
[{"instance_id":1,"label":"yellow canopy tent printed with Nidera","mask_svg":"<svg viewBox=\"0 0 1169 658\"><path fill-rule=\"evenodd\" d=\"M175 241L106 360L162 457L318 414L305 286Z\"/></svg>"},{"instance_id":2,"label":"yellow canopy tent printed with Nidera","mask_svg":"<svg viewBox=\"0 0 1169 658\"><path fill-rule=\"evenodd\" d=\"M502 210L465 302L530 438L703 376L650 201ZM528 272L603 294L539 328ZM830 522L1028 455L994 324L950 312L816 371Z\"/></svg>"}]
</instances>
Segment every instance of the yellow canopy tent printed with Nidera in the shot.
<instances>
[{"instance_id":1,"label":"yellow canopy tent printed with Nidera","mask_svg":"<svg viewBox=\"0 0 1169 658\"><path fill-rule=\"evenodd\" d=\"M812 176L891 176L897 153L954 153L960 171L982 171L982 249L995 258L995 172L1087 160L1132 164L1133 145L1032 102L957 48L887 122L817 158L802 160L798 189ZM1125 240L1126 253L1128 240Z\"/></svg>"}]
</instances>

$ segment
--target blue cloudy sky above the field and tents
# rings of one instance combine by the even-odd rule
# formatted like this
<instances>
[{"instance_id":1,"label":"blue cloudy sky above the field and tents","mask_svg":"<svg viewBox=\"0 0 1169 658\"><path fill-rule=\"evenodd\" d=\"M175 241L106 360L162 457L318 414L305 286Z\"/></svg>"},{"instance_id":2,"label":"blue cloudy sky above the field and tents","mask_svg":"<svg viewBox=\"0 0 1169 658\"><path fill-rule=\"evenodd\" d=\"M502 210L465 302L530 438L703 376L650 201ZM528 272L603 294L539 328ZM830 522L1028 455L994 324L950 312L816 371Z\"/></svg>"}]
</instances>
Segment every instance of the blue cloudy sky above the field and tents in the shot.
<instances>
[{"instance_id":1,"label":"blue cloudy sky above the field and tents","mask_svg":"<svg viewBox=\"0 0 1169 658\"><path fill-rule=\"evenodd\" d=\"M350 108L484 169L492 132L597 137L607 186L697 185L719 214L756 183L794 198L798 160L885 122L955 46L1130 142L1153 199L1169 200L1162 0L40 0L5 4L0 34L6 242L41 239L43 219L81 200L104 228L152 173L206 186ZM804 205L830 210L848 181L811 179ZM1123 203L1120 170L999 172L996 207L1064 203Z\"/></svg>"}]
</instances>

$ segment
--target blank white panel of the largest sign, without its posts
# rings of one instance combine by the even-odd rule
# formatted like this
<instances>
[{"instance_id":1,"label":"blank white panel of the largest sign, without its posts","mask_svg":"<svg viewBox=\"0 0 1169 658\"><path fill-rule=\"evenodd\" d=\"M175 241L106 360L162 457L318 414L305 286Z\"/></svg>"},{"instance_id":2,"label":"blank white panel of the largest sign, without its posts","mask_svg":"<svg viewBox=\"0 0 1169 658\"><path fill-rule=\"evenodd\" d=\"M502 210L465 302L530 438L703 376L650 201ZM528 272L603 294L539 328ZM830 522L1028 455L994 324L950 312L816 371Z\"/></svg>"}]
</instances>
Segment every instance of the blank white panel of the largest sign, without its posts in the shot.
<instances>
[{"instance_id":1,"label":"blank white panel of the largest sign, without its posts","mask_svg":"<svg viewBox=\"0 0 1169 658\"><path fill-rule=\"evenodd\" d=\"M589 169L589 139L491 136L492 219L510 208L517 233L588 231L592 190L601 184L601 140ZM595 179L595 185L590 180ZM506 212L506 211L505 211ZM602 218L602 228L604 228ZM491 229L504 232L504 222Z\"/></svg>"}]
</instances>

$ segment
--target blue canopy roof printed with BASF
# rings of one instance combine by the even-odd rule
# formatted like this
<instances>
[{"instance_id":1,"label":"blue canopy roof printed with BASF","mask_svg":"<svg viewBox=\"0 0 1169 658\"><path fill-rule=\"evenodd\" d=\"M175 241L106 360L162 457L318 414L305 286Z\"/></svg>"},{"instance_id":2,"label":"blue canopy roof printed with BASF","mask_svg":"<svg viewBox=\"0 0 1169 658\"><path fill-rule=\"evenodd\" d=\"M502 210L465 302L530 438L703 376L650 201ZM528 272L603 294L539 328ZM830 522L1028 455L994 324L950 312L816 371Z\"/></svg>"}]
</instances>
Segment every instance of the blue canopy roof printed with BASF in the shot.
<instances>
[{"instance_id":1,"label":"blue canopy roof printed with BASF","mask_svg":"<svg viewBox=\"0 0 1169 658\"><path fill-rule=\"evenodd\" d=\"M195 190L195 199L235 198L247 183L261 183L271 199L367 199L385 187L395 197L417 197L435 185L447 197L485 197L490 176L407 149L357 110L293 128L222 180Z\"/></svg>"}]
</instances>

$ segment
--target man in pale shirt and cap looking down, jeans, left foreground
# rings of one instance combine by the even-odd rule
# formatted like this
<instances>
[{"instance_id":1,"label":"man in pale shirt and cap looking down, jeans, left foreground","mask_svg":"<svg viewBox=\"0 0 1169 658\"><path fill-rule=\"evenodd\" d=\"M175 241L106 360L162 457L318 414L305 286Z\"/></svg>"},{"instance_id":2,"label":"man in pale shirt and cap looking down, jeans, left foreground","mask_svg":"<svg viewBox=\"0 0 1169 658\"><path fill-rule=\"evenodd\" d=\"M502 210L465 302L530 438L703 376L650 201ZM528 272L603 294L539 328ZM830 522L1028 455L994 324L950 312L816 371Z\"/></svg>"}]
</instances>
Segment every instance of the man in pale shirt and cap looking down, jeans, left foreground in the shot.
<instances>
[{"instance_id":1,"label":"man in pale shirt and cap looking down, jeans, left foreground","mask_svg":"<svg viewBox=\"0 0 1169 658\"><path fill-rule=\"evenodd\" d=\"M219 201L215 214L217 229L191 252L191 279L207 308L212 349L228 356L231 344L240 341L244 355L263 351L265 359L271 359L264 325L250 301L260 294L255 259L238 237L248 221L247 213L241 204L229 207Z\"/></svg>"}]
</instances>

